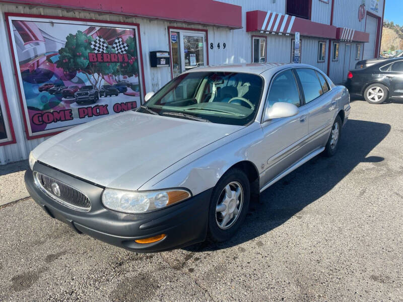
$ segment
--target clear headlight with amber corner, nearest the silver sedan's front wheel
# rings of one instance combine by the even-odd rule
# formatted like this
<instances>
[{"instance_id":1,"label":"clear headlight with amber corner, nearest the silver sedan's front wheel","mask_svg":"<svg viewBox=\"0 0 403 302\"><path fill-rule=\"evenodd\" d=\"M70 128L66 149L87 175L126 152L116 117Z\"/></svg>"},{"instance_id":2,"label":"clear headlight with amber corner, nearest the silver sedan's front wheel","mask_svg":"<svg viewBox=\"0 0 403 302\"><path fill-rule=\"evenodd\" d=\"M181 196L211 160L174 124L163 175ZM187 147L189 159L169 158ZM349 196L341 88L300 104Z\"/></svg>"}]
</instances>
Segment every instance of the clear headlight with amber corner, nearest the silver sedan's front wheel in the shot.
<instances>
[{"instance_id":1,"label":"clear headlight with amber corner, nearest the silver sedan's front wheel","mask_svg":"<svg viewBox=\"0 0 403 302\"><path fill-rule=\"evenodd\" d=\"M185 200L191 196L186 190L125 191L105 189L102 203L109 209L124 213L146 213Z\"/></svg>"}]
</instances>

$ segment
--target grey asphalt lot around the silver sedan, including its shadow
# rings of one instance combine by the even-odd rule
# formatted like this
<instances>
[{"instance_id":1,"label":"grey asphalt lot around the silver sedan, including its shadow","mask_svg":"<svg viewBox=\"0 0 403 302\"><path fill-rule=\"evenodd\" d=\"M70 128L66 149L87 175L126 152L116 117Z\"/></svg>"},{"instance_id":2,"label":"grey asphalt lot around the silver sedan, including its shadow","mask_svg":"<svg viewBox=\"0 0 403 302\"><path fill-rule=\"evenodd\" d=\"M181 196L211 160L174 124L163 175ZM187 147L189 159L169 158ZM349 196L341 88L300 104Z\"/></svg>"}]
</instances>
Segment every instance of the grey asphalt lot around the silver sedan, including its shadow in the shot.
<instances>
[{"instance_id":1,"label":"grey asphalt lot around the silver sedan, including its shadow","mask_svg":"<svg viewBox=\"0 0 403 302\"><path fill-rule=\"evenodd\" d=\"M232 241L136 254L32 199L0 208L0 301L402 301L403 102L352 102L338 154L262 193Z\"/></svg>"}]
</instances>

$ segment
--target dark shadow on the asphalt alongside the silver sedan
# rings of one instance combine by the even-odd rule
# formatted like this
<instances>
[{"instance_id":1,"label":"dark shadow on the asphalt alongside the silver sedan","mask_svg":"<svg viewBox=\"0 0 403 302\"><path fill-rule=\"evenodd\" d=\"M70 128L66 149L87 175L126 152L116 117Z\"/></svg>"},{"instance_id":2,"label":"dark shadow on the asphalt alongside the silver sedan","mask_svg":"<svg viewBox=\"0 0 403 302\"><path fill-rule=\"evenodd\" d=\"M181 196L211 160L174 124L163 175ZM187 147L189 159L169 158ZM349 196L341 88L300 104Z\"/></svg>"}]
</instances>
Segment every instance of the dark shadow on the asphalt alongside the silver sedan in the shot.
<instances>
[{"instance_id":1,"label":"dark shadow on the asphalt alongside the silver sedan","mask_svg":"<svg viewBox=\"0 0 403 302\"><path fill-rule=\"evenodd\" d=\"M332 158L318 155L261 193L251 202L239 232L228 242L208 241L184 248L213 251L233 247L277 228L307 205L329 192L358 164L384 158L367 155L390 131L389 124L349 120L343 128L338 152Z\"/></svg>"}]
</instances>

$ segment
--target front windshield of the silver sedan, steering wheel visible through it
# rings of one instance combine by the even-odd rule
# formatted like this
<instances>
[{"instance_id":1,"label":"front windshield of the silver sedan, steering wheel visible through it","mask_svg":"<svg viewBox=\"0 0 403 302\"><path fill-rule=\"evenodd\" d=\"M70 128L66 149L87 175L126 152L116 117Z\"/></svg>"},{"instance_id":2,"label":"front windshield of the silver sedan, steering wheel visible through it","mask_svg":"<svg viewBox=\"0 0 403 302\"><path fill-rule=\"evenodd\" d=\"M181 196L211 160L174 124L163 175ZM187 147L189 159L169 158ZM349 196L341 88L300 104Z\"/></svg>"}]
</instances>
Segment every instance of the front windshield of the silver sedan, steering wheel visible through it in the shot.
<instances>
[{"instance_id":1,"label":"front windshield of the silver sedan, steering wheel visible through it","mask_svg":"<svg viewBox=\"0 0 403 302\"><path fill-rule=\"evenodd\" d=\"M158 91L145 107L175 118L197 117L213 123L246 125L256 116L263 79L241 72L190 72ZM150 113L147 108L139 112ZM170 114L170 113L184 114Z\"/></svg>"}]
</instances>

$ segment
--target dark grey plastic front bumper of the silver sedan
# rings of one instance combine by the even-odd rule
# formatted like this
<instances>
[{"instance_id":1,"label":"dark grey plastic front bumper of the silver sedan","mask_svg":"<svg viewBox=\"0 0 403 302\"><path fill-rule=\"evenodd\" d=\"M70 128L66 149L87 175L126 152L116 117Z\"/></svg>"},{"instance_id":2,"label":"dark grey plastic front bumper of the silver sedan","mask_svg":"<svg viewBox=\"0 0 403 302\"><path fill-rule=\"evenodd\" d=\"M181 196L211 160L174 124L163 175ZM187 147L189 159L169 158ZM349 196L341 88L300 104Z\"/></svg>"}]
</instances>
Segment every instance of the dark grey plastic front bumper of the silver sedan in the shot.
<instances>
[{"instance_id":1,"label":"dark grey plastic front bumper of the silver sedan","mask_svg":"<svg viewBox=\"0 0 403 302\"><path fill-rule=\"evenodd\" d=\"M45 195L27 170L25 184L29 194L51 217L69 224L76 232L106 243L135 251L158 252L185 247L206 239L208 211L212 189L165 209L144 214L126 214L105 208L101 201L103 188L73 176L35 163L34 170L84 192L91 200L91 210L70 209ZM139 244L137 239L166 234L158 242Z\"/></svg>"}]
</instances>

